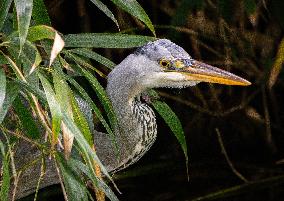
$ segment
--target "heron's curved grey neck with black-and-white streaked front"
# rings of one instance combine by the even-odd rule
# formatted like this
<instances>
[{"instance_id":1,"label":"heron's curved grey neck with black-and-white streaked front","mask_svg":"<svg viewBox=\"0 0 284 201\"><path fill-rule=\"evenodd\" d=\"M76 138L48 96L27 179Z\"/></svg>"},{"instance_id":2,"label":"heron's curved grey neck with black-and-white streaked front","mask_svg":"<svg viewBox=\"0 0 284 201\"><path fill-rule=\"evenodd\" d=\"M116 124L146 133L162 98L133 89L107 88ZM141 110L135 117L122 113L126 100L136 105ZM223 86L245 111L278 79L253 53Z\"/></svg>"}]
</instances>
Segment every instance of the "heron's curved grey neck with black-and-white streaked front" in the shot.
<instances>
[{"instance_id":1,"label":"heron's curved grey neck with black-and-white streaked front","mask_svg":"<svg viewBox=\"0 0 284 201\"><path fill-rule=\"evenodd\" d=\"M156 119L148 105L141 103L135 96L129 96L131 88L118 88L116 85L117 90L113 90L111 87L112 82L109 81L107 92L119 127L116 130L116 141L121 167L118 169L123 169L142 157L154 143L157 136Z\"/></svg>"}]
</instances>

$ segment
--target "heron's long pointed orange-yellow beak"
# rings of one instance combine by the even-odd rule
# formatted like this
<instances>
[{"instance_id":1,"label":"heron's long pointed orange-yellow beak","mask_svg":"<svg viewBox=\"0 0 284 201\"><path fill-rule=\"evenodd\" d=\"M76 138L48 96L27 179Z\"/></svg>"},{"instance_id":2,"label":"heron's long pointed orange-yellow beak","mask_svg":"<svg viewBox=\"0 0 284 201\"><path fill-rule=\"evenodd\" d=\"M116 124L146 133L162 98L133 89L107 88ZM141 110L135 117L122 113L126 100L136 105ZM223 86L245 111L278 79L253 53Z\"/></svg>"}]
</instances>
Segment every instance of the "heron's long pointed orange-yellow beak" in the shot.
<instances>
[{"instance_id":1,"label":"heron's long pointed orange-yellow beak","mask_svg":"<svg viewBox=\"0 0 284 201\"><path fill-rule=\"evenodd\" d=\"M192 81L210 82L225 85L251 85L249 81L237 75L196 60L192 60L190 66L182 67L178 71L186 76L188 80Z\"/></svg>"}]
</instances>

